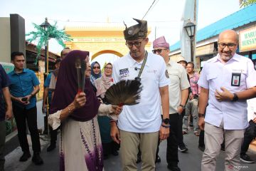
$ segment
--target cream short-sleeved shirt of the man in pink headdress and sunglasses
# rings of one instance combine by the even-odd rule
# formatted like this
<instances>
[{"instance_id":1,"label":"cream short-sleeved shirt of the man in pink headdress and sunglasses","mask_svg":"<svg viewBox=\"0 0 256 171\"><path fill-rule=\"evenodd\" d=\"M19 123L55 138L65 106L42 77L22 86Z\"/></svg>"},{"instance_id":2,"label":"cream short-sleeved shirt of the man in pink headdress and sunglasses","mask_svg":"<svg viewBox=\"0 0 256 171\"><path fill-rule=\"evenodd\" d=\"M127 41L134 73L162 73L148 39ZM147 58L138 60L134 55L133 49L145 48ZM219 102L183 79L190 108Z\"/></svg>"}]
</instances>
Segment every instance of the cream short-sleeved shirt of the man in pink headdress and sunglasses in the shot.
<instances>
[{"instance_id":1,"label":"cream short-sleeved shirt of the man in pink headdress and sunglasses","mask_svg":"<svg viewBox=\"0 0 256 171\"><path fill-rule=\"evenodd\" d=\"M170 85L169 85L169 113L177 113L177 108L181 104L181 90L189 88L186 70L181 64L169 61L166 65Z\"/></svg>"}]
</instances>

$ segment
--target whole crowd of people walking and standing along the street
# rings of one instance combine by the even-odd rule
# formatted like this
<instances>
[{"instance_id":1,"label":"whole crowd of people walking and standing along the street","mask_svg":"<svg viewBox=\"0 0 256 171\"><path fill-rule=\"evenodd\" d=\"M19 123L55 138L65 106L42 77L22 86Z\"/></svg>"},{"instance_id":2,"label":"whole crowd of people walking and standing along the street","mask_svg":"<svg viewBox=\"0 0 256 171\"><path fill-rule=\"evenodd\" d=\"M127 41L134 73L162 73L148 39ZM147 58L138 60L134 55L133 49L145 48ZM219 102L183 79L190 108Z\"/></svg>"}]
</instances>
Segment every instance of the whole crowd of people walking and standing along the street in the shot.
<instances>
[{"instance_id":1,"label":"whole crowd of people walking and standing along the street","mask_svg":"<svg viewBox=\"0 0 256 171\"><path fill-rule=\"evenodd\" d=\"M178 171L178 150L188 151L183 136L190 129L199 136L202 171L215 170L221 145L225 170L238 170L235 166L240 160L253 162L246 152L256 135L256 71L249 58L236 53L238 34L232 30L220 33L218 55L199 74L193 62L182 57L171 61L164 36L153 41L152 53L147 52L147 22L134 20L137 25L125 25L126 56L101 68L97 61L89 63L89 51L65 48L46 78L42 110L50 113L46 118L50 125L47 151L55 149L60 130L60 170L103 170L103 161L111 154L119 155L118 150L122 170L138 170L138 162L142 162L142 170L156 170L156 162L161 162L159 144L167 140L166 165ZM78 59L86 65L82 92L75 68ZM11 62L14 71L8 75L0 66L0 98L4 97L0 104L0 170L4 170L4 120L12 113L23 151L19 161L31 157L27 124L32 161L43 164L36 123L39 81L33 71L24 68L23 53L11 53ZM142 83L139 104L107 103L108 88L133 79Z\"/></svg>"}]
</instances>

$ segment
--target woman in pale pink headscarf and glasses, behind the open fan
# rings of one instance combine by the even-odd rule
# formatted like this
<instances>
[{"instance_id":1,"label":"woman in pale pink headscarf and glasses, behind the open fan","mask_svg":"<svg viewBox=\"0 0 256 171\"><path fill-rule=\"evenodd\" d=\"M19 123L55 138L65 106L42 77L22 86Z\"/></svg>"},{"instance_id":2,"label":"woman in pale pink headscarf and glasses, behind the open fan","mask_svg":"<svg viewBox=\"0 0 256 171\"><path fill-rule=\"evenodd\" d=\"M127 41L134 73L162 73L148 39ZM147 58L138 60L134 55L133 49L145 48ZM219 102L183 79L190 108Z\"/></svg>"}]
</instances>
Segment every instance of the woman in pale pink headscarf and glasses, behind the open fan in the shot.
<instances>
[{"instance_id":1,"label":"woman in pale pink headscarf and glasses, behind the open fan","mask_svg":"<svg viewBox=\"0 0 256 171\"><path fill-rule=\"evenodd\" d=\"M103 103L107 103L105 100L105 93L113 84L112 78L112 64L107 63L104 68L104 73L101 78L97 78L95 81L95 87L97 88L97 97L102 99ZM117 149L119 145L115 143L110 137L110 118L107 116L98 116L98 122L100 126L100 136L102 140L104 159L107 159L108 155L118 155Z\"/></svg>"}]
</instances>

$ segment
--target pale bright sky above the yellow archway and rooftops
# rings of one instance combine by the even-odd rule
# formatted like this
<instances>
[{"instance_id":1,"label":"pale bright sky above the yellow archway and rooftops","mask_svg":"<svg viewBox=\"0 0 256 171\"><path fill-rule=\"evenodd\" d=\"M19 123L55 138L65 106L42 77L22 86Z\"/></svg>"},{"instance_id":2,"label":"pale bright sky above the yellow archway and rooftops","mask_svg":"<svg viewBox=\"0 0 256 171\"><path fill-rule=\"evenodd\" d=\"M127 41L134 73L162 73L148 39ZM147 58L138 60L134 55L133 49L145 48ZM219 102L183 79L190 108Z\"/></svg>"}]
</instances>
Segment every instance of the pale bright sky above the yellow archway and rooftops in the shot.
<instances>
[{"instance_id":1,"label":"pale bright sky above the yellow archway and rooftops","mask_svg":"<svg viewBox=\"0 0 256 171\"><path fill-rule=\"evenodd\" d=\"M25 19L26 33L33 31L33 25L42 24L48 17L50 24L58 22L58 28L65 25L95 23L104 25L109 19L115 25L137 24L132 18L142 19L154 0L0 0L0 17L19 14ZM185 0L156 0L144 17L151 27L149 41L156 36L165 36L170 45L179 41L181 15ZM198 30L240 10L239 0L198 0ZM75 21L75 22L74 22ZM49 50L60 53L62 47L54 40ZM88 50L90 51L90 49ZM102 55L104 56L104 54ZM99 56L100 57L100 56ZM107 58L115 58L113 56ZM97 59L97 58L95 58ZM107 59L112 61L110 59Z\"/></svg>"}]
</instances>

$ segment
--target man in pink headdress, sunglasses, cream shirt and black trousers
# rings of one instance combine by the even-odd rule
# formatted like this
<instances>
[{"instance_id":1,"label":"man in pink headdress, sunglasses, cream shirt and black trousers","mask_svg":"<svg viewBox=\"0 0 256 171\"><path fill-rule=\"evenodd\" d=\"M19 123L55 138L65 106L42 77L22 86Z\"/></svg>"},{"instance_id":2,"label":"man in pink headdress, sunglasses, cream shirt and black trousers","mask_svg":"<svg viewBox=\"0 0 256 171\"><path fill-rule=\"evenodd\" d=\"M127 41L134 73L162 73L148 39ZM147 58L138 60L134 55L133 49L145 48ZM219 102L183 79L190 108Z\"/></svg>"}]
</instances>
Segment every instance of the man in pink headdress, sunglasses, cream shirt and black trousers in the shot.
<instances>
[{"instance_id":1,"label":"man in pink headdress, sunglasses, cream shirt and black trousers","mask_svg":"<svg viewBox=\"0 0 256 171\"><path fill-rule=\"evenodd\" d=\"M169 84L169 118L170 134L167 138L166 161L169 170L179 171L178 167L178 134L182 135L182 116L181 113L186 105L188 98L189 82L185 68L169 58L169 43L164 36L153 41L153 53L164 58L171 84ZM185 146L185 145L184 145ZM185 147L186 148L186 147ZM187 148L186 148L187 150ZM159 147L157 152L159 151ZM156 154L156 157L158 154Z\"/></svg>"}]
</instances>

